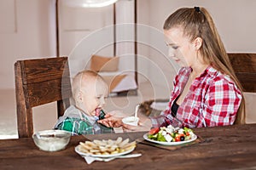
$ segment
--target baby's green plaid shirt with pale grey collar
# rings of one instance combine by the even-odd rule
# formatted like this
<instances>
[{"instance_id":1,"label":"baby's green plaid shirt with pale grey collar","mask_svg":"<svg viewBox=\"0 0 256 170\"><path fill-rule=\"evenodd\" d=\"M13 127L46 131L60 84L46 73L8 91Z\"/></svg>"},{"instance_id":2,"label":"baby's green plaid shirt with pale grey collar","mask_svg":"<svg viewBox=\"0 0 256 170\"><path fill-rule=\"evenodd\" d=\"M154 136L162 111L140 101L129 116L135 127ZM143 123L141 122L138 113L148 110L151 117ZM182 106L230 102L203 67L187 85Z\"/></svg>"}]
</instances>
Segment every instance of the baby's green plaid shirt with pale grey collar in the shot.
<instances>
[{"instance_id":1,"label":"baby's green plaid shirt with pale grey collar","mask_svg":"<svg viewBox=\"0 0 256 170\"><path fill-rule=\"evenodd\" d=\"M86 116L73 105L67 108L64 116L59 118L55 124L55 129L69 131L72 135L114 133L113 128L104 127L102 124L96 122L94 117Z\"/></svg>"}]
</instances>

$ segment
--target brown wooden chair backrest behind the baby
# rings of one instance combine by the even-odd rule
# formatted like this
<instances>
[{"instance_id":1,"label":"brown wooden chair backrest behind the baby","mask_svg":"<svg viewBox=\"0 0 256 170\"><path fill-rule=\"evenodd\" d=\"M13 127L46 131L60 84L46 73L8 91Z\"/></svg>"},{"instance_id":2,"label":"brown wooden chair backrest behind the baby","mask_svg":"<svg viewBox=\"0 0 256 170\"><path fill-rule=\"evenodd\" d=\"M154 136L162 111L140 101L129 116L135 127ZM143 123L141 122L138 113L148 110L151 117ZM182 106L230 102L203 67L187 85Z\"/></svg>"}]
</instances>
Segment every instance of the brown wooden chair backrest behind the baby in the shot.
<instances>
[{"instance_id":1,"label":"brown wooden chair backrest behind the baby","mask_svg":"<svg viewBox=\"0 0 256 170\"><path fill-rule=\"evenodd\" d=\"M64 114L72 96L67 57L15 62L15 94L19 138L32 137L32 107L57 101Z\"/></svg>"}]
</instances>

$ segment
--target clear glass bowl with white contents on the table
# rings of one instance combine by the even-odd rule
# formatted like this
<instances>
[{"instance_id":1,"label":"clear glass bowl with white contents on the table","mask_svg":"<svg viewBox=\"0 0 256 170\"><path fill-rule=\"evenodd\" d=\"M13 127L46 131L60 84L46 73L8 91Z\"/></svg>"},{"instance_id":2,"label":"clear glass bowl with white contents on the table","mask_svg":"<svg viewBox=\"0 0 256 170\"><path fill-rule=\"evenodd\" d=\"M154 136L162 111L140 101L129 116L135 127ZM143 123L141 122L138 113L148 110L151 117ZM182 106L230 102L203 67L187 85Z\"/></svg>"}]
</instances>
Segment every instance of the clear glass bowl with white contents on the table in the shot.
<instances>
[{"instance_id":1,"label":"clear glass bowl with white contents on the table","mask_svg":"<svg viewBox=\"0 0 256 170\"><path fill-rule=\"evenodd\" d=\"M71 133L64 130L44 130L32 135L34 143L40 150L57 151L66 148Z\"/></svg>"}]
</instances>

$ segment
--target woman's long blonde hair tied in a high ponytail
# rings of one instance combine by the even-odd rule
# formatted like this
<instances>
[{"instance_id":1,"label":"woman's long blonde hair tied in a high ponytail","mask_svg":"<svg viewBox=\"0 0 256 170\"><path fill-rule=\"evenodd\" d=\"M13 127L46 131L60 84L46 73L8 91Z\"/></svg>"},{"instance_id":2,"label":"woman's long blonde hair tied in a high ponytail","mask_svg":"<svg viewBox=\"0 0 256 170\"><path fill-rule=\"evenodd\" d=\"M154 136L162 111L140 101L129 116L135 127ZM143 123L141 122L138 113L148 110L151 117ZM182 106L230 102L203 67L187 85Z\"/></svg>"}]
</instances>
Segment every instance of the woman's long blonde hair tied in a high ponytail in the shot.
<instances>
[{"instance_id":1,"label":"woman's long blonde hair tied in a high ponytail","mask_svg":"<svg viewBox=\"0 0 256 170\"><path fill-rule=\"evenodd\" d=\"M170 30L177 26L183 28L184 36L189 37L191 42L196 37L201 37L203 42L200 52L204 56L205 62L210 63L216 70L230 76L236 83L236 86L241 91L242 99L236 114L235 124L244 124L245 100L242 94L241 83L235 75L230 58L207 9L199 7L177 9L166 19L163 28L164 30Z\"/></svg>"}]
</instances>

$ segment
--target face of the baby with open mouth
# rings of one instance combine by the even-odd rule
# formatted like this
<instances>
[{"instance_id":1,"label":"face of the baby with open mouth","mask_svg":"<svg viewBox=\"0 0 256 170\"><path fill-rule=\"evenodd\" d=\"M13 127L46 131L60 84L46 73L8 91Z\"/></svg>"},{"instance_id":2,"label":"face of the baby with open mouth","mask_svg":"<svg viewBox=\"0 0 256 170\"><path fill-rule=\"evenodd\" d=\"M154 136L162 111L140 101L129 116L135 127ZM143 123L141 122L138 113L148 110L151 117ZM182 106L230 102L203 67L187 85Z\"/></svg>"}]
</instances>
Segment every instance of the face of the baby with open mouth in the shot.
<instances>
[{"instance_id":1,"label":"face of the baby with open mouth","mask_svg":"<svg viewBox=\"0 0 256 170\"><path fill-rule=\"evenodd\" d=\"M91 83L83 93L83 108L86 109L89 116L99 116L99 112L105 105L105 99L108 97L108 85L106 82L97 79L96 82Z\"/></svg>"}]
</instances>

